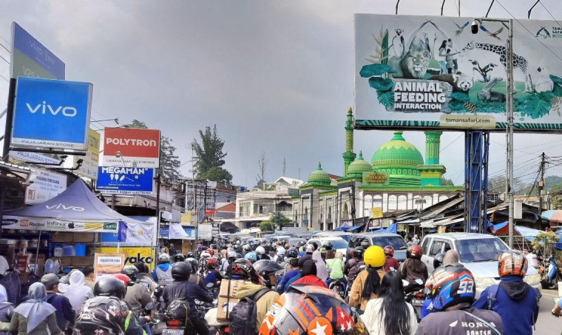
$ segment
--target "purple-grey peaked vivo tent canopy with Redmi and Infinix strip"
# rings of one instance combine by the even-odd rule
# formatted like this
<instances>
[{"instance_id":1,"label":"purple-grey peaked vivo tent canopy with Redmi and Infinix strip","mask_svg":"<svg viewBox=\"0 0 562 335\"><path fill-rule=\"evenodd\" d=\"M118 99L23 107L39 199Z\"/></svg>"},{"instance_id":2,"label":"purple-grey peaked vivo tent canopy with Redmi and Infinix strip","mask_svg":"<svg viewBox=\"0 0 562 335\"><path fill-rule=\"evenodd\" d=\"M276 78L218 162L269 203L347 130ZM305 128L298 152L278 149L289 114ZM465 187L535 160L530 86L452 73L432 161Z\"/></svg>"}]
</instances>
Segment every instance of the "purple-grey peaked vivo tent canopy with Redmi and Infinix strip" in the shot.
<instances>
[{"instance_id":1,"label":"purple-grey peaked vivo tent canopy with Redmi and Infinix strip","mask_svg":"<svg viewBox=\"0 0 562 335\"><path fill-rule=\"evenodd\" d=\"M120 222L145 229L153 226L110 209L81 179L51 200L3 214L4 229L116 233Z\"/></svg>"}]
</instances>

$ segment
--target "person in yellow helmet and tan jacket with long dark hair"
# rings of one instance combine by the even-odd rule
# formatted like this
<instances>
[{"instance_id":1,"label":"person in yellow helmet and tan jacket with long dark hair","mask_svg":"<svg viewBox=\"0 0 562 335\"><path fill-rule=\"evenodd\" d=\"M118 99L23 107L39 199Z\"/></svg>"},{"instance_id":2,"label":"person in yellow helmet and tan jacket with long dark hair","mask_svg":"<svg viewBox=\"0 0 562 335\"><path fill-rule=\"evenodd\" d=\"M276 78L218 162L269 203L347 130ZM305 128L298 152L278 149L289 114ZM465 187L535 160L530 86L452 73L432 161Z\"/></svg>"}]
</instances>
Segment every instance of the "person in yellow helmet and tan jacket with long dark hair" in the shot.
<instances>
[{"instance_id":1,"label":"person in yellow helmet and tan jacket with long dark hair","mask_svg":"<svg viewBox=\"0 0 562 335\"><path fill-rule=\"evenodd\" d=\"M362 270L353 285L350 292L350 307L354 307L363 313L367 302L378 296L380 282L384 277L384 251L379 246L370 246L363 254L363 261L366 268Z\"/></svg>"}]
</instances>

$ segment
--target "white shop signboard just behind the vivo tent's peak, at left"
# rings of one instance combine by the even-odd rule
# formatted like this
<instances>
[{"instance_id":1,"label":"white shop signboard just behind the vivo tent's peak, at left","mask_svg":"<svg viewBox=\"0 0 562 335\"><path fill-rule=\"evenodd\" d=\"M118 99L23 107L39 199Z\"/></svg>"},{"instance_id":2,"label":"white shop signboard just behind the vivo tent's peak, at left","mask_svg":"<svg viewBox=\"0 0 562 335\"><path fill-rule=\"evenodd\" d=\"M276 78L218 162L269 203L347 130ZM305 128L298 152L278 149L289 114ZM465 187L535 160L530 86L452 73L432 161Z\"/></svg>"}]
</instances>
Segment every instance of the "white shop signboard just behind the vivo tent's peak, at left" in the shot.
<instances>
[{"instance_id":1,"label":"white shop signboard just behind the vivo tent's peak, at left","mask_svg":"<svg viewBox=\"0 0 562 335\"><path fill-rule=\"evenodd\" d=\"M37 169L30 173L25 188L25 204L35 205L50 200L66 189L66 175L49 170Z\"/></svg>"}]
</instances>

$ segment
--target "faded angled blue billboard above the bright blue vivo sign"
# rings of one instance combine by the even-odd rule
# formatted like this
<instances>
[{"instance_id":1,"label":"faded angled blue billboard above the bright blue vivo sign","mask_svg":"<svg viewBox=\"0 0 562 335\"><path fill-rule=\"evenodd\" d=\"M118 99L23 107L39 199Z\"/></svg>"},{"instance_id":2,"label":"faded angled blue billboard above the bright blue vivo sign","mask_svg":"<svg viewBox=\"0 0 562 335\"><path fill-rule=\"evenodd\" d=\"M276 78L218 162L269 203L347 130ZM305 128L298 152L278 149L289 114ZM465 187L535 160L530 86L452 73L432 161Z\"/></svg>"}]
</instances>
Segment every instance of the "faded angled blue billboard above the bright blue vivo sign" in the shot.
<instances>
[{"instance_id":1,"label":"faded angled blue billboard above the bright blue vivo sign","mask_svg":"<svg viewBox=\"0 0 562 335\"><path fill-rule=\"evenodd\" d=\"M65 64L16 22L12 22L11 78L65 80Z\"/></svg>"}]
</instances>

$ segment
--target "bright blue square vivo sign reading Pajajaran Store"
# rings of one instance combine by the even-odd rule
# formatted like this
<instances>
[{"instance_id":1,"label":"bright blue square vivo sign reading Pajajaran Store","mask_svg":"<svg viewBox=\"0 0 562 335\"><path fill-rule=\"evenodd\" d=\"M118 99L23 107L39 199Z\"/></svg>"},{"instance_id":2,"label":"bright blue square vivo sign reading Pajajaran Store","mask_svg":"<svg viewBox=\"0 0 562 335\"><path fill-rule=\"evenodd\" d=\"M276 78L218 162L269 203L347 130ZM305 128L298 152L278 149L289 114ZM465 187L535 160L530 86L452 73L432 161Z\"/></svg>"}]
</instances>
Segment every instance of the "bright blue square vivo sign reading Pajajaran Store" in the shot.
<instances>
[{"instance_id":1,"label":"bright blue square vivo sign reading Pajajaran Store","mask_svg":"<svg viewBox=\"0 0 562 335\"><path fill-rule=\"evenodd\" d=\"M87 150L93 85L19 77L12 147Z\"/></svg>"}]
</instances>

